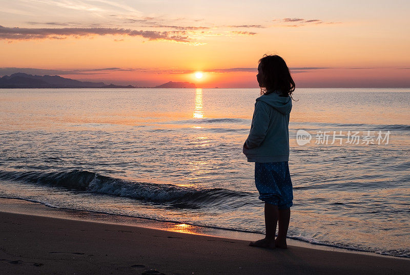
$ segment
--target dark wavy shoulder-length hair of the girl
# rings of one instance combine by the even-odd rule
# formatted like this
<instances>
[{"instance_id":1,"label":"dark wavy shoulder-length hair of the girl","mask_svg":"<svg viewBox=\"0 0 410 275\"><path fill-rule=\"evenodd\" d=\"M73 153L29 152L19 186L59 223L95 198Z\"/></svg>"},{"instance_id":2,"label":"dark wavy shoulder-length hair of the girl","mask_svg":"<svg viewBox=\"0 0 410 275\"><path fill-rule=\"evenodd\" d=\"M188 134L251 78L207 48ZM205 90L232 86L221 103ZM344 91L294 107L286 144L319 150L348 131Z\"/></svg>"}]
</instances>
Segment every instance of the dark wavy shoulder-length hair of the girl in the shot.
<instances>
[{"instance_id":1,"label":"dark wavy shoulder-length hair of the girl","mask_svg":"<svg viewBox=\"0 0 410 275\"><path fill-rule=\"evenodd\" d=\"M259 59L262 70L262 85L260 94L270 94L280 91L282 96L290 96L295 91L295 82L285 60L279 55L263 55ZM293 99L293 98L292 98Z\"/></svg>"}]
</instances>

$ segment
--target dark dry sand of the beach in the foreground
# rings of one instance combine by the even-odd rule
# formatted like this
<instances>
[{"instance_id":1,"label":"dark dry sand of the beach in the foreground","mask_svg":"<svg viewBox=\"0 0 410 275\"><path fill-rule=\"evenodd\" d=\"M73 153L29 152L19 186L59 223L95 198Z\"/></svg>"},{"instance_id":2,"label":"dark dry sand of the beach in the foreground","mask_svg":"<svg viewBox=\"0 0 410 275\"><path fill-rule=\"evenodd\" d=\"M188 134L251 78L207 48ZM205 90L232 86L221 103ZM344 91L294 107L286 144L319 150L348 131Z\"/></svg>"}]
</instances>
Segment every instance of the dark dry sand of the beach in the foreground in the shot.
<instances>
[{"instance_id":1,"label":"dark dry sand of the beach in the foreground","mask_svg":"<svg viewBox=\"0 0 410 275\"><path fill-rule=\"evenodd\" d=\"M408 259L0 212L0 274L408 274ZM158 270L149 271L149 270Z\"/></svg>"}]
</instances>

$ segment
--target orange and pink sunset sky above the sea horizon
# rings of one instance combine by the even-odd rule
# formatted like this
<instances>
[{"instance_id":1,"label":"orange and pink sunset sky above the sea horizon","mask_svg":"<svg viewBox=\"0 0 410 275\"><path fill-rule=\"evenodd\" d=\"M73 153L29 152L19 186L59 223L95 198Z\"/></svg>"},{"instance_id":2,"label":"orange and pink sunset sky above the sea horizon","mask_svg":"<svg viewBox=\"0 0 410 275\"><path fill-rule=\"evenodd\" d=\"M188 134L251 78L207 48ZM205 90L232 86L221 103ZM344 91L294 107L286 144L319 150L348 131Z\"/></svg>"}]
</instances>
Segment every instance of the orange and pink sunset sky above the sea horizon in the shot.
<instances>
[{"instance_id":1,"label":"orange and pink sunset sky above the sea horizon","mask_svg":"<svg viewBox=\"0 0 410 275\"><path fill-rule=\"evenodd\" d=\"M259 58L278 54L296 88L410 87L409 1L0 0L0 6L0 76L257 88Z\"/></svg>"}]
</instances>

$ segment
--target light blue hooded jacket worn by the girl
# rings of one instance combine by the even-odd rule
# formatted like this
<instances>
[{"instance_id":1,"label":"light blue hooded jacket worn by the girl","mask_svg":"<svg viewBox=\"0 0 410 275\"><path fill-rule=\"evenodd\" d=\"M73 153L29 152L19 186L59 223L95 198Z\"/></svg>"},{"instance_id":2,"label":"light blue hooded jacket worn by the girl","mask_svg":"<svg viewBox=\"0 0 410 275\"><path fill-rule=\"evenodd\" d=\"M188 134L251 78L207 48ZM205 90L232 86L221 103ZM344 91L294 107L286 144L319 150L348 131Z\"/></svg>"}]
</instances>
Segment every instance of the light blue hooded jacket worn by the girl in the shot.
<instances>
[{"instance_id":1,"label":"light blue hooded jacket worn by the girl","mask_svg":"<svg viewBox=\"0 0 410 275\"><path fill-rule=\"evenodd\" d=\"M243 146L249 162L289 161L290 96L272 92L256 99L251 131ZM245 144L243 144L245 145Z\"/></svg>"}]
</instances>

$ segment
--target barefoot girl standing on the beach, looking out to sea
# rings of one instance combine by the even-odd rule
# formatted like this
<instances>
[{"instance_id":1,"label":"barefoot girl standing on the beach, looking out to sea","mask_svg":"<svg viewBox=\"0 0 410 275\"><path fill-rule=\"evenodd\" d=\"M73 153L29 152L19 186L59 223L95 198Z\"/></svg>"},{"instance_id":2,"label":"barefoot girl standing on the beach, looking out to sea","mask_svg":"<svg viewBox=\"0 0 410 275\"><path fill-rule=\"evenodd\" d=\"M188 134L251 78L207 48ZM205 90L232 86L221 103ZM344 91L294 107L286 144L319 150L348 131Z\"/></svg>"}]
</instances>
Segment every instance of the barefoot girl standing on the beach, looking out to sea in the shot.
<instances>
[{"instance_id":1,"label":"barefoot girl standing on the beach, looking out to sea","mask_svg":"<svg viewBox=\"0 0 410 275\"><path fill-rule=\"evenodd\" d=\"M255 184L259 199L265 202L264 239L250 246L287 248L293 205L289 174L289 114L295 82L285 61L278 55L264 55L259 60L256 78L261 96L256 99L251 131L243 144L243 154L255 162ZM275 240L276 224L278 237Z\"/></svg>"}]
</instances>

